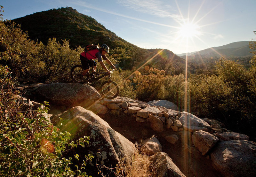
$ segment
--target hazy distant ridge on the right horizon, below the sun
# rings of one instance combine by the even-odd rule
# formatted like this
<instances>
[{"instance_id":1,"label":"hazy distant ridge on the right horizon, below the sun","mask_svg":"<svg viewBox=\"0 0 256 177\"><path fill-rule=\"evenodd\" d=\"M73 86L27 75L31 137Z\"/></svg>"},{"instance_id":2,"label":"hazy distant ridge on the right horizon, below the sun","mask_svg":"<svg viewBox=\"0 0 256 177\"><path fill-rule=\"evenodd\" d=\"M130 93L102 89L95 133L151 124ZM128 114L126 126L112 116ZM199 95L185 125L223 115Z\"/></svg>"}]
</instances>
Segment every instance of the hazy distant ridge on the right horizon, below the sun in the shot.
<instances>
[{"instance_id":1,"label":"hazy distant ridge on the right horizon, below the sun","mask_svg":"<svg viewBox=\"0 0 256 177\"><path fill-rule=\"evenodd\" d=\"M249 48L250 41L240 41L240 42L232 42L227 45L219 46L219 47L211 47L208 49L191 52L188 53L189 58L195 58L197 55L200 55L203 58L210 58L210 57L250 57L252 51ZM181 58L185 58L186 53L177 54Z\"/></svg>"}]
</instances>

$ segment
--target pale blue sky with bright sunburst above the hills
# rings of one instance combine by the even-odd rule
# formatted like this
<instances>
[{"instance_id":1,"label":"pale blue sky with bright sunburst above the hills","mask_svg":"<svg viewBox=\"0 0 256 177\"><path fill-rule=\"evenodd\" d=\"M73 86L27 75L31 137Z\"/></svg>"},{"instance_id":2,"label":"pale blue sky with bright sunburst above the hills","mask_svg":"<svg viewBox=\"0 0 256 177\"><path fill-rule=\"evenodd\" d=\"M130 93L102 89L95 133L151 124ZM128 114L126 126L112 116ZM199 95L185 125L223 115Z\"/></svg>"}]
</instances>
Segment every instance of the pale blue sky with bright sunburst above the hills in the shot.
<instances>
[{"instance_id":1,"label":"pale blue sky with bright sunburst above the hills","mask_svg":"<svg viewBox=\"0 0 256 177\"><path fill-rule=\"evenodd\" d=\"M4 19L72 7L141 48L174 53L255 39L256 0L1 0Z\"/></svg>"}]
</instances>

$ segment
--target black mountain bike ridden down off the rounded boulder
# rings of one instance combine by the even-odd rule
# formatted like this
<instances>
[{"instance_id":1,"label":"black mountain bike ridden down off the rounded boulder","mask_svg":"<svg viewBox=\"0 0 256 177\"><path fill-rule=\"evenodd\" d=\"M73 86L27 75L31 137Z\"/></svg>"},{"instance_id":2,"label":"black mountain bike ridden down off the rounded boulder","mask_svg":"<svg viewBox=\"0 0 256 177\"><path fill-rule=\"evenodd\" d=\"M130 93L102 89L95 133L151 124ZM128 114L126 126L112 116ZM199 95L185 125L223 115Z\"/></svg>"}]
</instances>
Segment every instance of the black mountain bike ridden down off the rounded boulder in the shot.
<instances>
[{"instance_id":1,"label":"black mountain bike ridden down off the rounded boulder","mask_svg":"<svg viewBox=\"0 0 256 177\"><path fill-rule=\"evenodd\" d=\"M110 73L106 72L94 72L93 67L91 67L92 71L89 74L82 75L83 68L82 65L75 65L71 68L70 75L73 81L76 83L88 83L91 84L92 82L98 81L100 78L108 76L108 80L104 81L100 86L100 95L103 97L106 97L108 99L116 98L119 94L119 87L116 84L116 82L111 81L111 73L114 72L111 71Z\"/></svg>"}]
</instances>

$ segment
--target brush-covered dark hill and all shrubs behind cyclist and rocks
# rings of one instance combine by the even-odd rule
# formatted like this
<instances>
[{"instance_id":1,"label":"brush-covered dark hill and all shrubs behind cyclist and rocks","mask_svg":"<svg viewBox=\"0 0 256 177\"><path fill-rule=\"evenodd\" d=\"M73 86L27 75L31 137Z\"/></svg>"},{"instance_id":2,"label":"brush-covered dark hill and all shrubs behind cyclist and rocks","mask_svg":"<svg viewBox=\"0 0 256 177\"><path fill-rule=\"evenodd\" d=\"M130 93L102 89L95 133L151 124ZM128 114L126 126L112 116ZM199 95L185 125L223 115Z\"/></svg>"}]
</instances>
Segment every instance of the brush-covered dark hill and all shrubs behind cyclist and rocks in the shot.
<instances>
[{"instance_id":1,"label":"brush-covered dark hill and all shrubs behind cyclist and rocks","mask_svg":"<svg viewBox=\"0 0 256 177\"><path fill-rule=\"evenodd\" d=\"M169 50L140 49L72 8L37 12L13 21L28 31L1 20L0 64L10 68L13 80L71 82L70 68L80 63L84 45L106 43L111 48L108 58L120 65L112 78L120 87L120 96L168 100L180 111L218 119L229 129L255 138L255 41L250 44L253 58L247 68L227 58L208 58L209 62L188 62L185 80L184 59ZM100 83L92 86L98 88Z\"/></svg>"}]
</instances>

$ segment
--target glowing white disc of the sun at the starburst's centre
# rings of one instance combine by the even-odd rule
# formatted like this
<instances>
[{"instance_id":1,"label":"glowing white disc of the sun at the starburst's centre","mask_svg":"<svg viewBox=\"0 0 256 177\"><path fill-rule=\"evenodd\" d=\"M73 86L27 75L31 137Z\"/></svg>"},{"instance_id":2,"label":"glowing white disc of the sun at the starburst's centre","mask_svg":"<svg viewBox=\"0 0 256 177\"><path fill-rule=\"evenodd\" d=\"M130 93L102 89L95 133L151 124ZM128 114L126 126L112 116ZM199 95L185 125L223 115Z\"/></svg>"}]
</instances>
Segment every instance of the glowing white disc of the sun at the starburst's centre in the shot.
<instances>
[{"instance_id":1,"label":"glowing white disc of the sun at the starburst's centre","mask_svg":"<svg viewBox=\"0 0 256 177\"><path fill-rule=\"evenodd\" d=\"M181 37L193 37L193 36L197 36L199 35L199 26L191 23L191 22L187 22L184 23L183 25L181 25L181 27L179 27L179 35Z\"/></svg>"}]
</instances>

